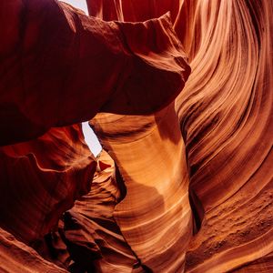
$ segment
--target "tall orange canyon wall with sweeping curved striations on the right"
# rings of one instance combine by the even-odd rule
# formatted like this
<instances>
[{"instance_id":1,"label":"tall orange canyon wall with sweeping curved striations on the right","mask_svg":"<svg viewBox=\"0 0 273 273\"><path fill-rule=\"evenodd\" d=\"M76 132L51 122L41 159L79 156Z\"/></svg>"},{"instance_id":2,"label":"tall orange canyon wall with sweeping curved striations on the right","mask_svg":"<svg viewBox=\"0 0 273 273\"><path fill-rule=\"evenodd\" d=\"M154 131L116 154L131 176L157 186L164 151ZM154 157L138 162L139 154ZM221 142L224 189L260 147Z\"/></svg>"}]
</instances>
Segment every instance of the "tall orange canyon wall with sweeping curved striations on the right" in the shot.
<instances>
[{"instance_id":1,"label":"tall orange canyon wall with sweeping curved striations on the right","mask_svg":"<svg viewBox=\"0 0 273 273\"><path fill-rule=\"evenodd\" d=\"M177 98L190 187L205 219L189 272L256 264L270 272L272 240L272 2L186 2L182 38L192 74ZM187 36L187 37L186 37ZM250 269L249 269L250 270Z\"/></svg>"}]
</instances>

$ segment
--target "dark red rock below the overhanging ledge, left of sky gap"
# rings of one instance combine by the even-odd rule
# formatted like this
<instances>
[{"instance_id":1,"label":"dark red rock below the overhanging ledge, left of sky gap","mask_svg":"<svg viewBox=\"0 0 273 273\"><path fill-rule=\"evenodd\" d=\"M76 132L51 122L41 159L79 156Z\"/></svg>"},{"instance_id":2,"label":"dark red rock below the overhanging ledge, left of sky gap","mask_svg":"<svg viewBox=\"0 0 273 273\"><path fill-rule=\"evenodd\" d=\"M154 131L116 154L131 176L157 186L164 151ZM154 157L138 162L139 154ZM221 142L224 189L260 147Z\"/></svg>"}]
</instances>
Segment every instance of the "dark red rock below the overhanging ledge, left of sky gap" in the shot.
<instances>
[{"instance_id":1,"label":"dark red rock below the overhanging ledge, left of sky gap","mask_svg":"<svg viewBox=\"0 0 273 273\"><path fill-rule=\"evenodd\" d=\"M51 129L36 140L1 147L0 155L0 225L29 245L88 192L96 171L81 126Z\"/></svg>"}]
</instances>

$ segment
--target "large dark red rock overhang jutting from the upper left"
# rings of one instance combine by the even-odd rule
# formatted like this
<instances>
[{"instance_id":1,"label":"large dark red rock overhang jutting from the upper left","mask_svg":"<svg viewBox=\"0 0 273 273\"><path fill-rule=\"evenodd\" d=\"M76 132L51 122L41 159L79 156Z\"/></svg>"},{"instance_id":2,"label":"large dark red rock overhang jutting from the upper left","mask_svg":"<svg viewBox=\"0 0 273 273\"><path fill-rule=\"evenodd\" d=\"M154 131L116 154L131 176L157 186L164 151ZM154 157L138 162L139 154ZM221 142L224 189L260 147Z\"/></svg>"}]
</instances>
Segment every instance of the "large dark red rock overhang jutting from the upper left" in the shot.
<instances>
[{"instance_id":1,"label":"large dark red rock overhang jutting from the upper left","mask_svg":"<svg viewBox=\"0 0 273 273\"><path fill-rule=\"evenodd\" d=\"M1 146L102 109L152 113L185 83L183 51L167 16L107 23L55 0L4 0L0 25Z\"/></svg>"}]
</instances>

